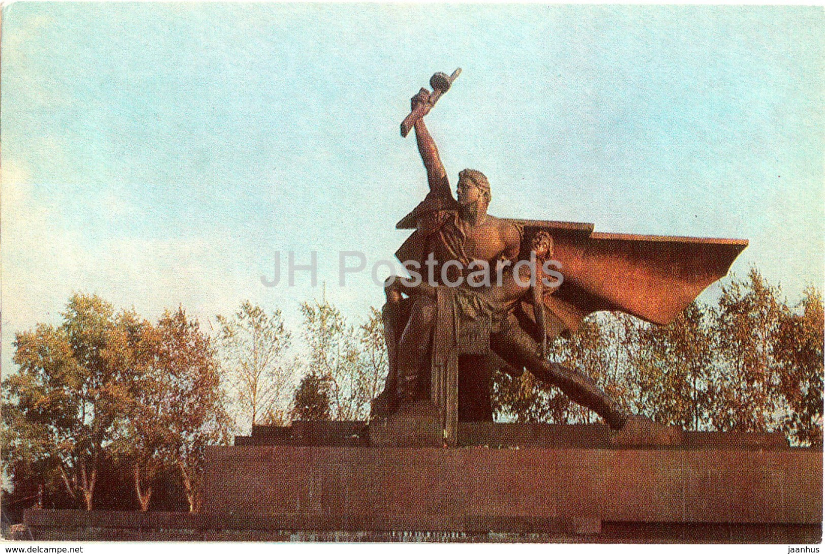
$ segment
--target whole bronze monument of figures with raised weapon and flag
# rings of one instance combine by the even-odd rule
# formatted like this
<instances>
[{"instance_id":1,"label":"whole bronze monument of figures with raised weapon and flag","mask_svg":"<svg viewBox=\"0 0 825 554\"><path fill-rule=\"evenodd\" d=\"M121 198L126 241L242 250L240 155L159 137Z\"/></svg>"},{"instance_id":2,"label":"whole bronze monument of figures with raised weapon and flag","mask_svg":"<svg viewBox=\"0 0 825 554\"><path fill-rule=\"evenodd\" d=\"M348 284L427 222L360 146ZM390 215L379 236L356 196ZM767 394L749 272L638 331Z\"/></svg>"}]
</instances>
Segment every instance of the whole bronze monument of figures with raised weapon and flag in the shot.
<instances>
[{"instance_id":1,"label":"whole bronze monument of figures with raised weapon and flag","mask_svg":"<svg viewBox=\"0 0 825 554\"><path fill-rule=\"evenodd\" d=\"M433 92L422 88L413 97L401 125L403 136L410 126L415 129L430 192L396 225L415 230L396 257L416 269L429 260L441 271L428 267L428 277L435 280L430 284L400 280L386 287L389 375L371 419L403 418L409 410L415 418L427 410L420 404L429 400L441 421L443 440L454 445L458 421L493 420L492 372L518 376L526 369L599 414L617 431L618 442L643 433L655 443L677 443L679 429L622 413L589 376L548 362L545 345L575 331L582 318L596 310L669 323L728 272L747 241L594 234L589 224L499 219L487 213L490 184L474 169L459 173L454 198L424 117L459 73L433 75ZM544 279L534 279L539 286L528 294L528 287L512 278L502 282L502 268L526 262L534 253L531 271L537 272L534 242L539 235L546 237L547 258L559 261L562 280L541 286ZM499 281L479 282L483 268L496 268ZM422 287L427 291L422 293ZM403 424L395 427L398 438Z\"/></svg>"}]
</instances>

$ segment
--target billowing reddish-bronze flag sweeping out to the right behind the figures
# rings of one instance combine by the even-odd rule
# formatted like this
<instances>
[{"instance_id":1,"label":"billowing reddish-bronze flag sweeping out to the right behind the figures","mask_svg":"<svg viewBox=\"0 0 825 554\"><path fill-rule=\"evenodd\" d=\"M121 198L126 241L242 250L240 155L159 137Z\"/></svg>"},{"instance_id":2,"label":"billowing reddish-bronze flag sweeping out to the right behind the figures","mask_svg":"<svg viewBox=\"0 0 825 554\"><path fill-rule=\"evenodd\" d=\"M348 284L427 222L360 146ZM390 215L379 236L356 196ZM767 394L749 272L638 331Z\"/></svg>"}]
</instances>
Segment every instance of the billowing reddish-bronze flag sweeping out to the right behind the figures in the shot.
<instances>
[{"instance_id":1,"label":"billowing reddish-bronze flag sweeping out to the right behind the figures","mask_svg":"<svg viewBox=\"0 0 825 554\"><path fill-rule=\"evenodd\" d=\"M655 324L668 324L711 283L728 273L747 240L700 239L643 234L594 233L590 223L510 220L523 232L521 258L529 258L530 241L540 230L554 241L553 259L563 283L544 296L548 334L575 331L594 311L615 310ZM414 228L411 218L398 229ZM422 258L425 233L416 230L396 256ZM533 320L522 304L521 316Z\"/></svg>"}]
</instances>

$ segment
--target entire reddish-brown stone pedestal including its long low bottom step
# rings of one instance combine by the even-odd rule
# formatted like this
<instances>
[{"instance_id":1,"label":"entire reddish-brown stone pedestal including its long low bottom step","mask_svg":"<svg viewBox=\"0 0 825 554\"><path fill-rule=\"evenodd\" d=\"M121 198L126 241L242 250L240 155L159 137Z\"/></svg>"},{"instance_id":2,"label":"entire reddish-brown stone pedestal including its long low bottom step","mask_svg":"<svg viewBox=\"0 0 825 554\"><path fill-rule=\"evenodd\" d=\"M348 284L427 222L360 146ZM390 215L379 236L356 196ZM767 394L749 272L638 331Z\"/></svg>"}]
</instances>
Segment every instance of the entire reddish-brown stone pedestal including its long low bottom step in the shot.
<instances>
[{"instance_id":1,"label":"entire reddish-brown stone pedestal including its long low bottom step","mask_svg":"<svg viewBox=\"0 0 825 554\"><path fill-rule=\"evenodd\" d=\"M679 446L629 447L615 444L604 425L462 423L458 447L370 446L389 431L370 433L364 422L257 427L251 437L237 438L238 446L207 449L201 514L29 510L21 538L813 543L822 537L823 453L790 448L780 435L683 433ZM437 442L428 433L423 442Z\"/></svg>"}]
</instances>

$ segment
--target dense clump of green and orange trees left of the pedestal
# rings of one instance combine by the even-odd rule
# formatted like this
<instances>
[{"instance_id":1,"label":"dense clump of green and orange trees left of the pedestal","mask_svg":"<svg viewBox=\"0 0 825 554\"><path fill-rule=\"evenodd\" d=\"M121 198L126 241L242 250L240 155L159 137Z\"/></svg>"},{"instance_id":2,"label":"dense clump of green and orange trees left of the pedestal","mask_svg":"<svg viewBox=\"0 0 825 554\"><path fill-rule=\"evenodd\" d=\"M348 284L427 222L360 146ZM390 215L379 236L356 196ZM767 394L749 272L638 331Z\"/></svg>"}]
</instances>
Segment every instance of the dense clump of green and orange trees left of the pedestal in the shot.
<instances>
[{"instance_id":1,"label":"dense clump of green and orange trees left of the pedestal","mask_svg":"<svg viewBox=\"0 0 825 554\"><path fill-rule=\"evenodd\" d=\"M152 481L174 467L197 509L205 446L229 424L209 337L182 309L153 326L98 296L72 296L63 318L16 336L20 371L2 384L7 471L36 468L46 489L60 483L92 509L106 460L130 468L148 509Z\"/></svg>"}]
</instances>

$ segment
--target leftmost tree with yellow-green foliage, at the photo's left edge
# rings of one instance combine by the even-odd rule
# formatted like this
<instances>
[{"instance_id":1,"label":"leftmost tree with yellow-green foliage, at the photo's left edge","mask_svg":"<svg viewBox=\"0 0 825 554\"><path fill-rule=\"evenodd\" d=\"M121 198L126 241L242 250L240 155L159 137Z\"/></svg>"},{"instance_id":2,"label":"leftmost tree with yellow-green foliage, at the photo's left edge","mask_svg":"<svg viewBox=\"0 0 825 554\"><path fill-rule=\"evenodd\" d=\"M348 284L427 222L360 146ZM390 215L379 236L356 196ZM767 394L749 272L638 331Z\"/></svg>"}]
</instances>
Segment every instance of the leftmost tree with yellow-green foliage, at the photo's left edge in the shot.
<instances>
[{"instance_id":1,"label":"leftmost tree with yellow-green foliage, at the photo's left edge","mask_svg":"<svg viewBox=\"0 0 825 554\"><path fill-rule=\"evenodd\" d=\"M106 357L116 328L112 306L76 294L62 315L59 327L38 324L16 335L20 371L2 387L4 458L45 463L91 510L103 449L128 393L121 368Z\"/></svg>"}]
</instances>

